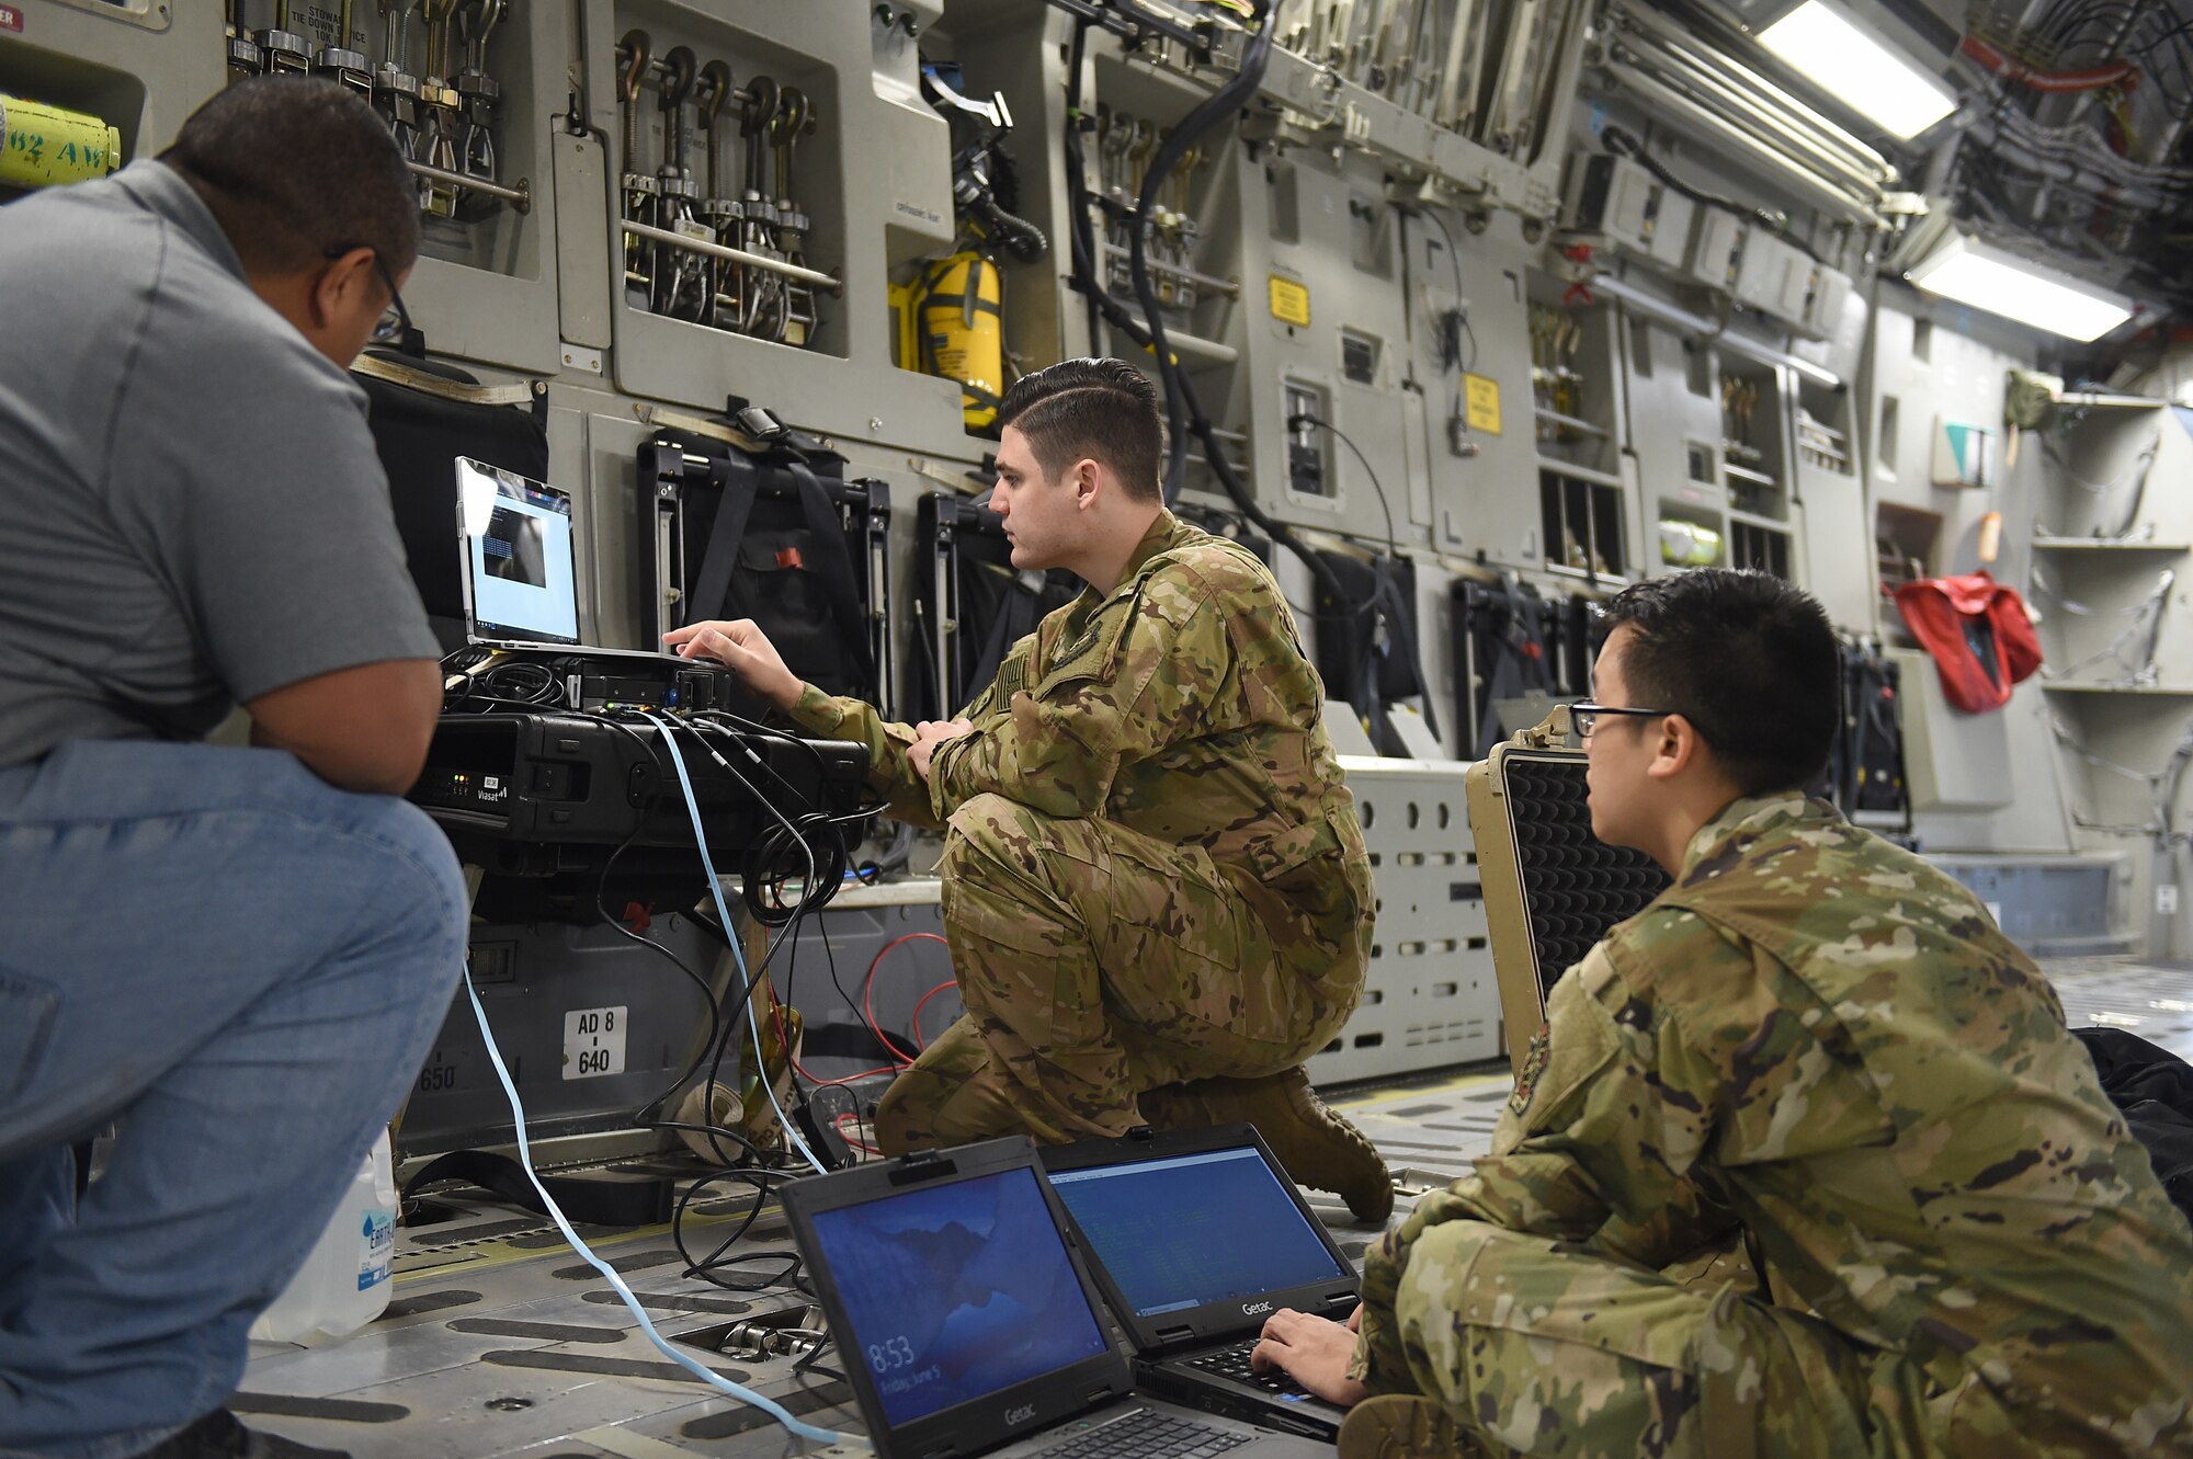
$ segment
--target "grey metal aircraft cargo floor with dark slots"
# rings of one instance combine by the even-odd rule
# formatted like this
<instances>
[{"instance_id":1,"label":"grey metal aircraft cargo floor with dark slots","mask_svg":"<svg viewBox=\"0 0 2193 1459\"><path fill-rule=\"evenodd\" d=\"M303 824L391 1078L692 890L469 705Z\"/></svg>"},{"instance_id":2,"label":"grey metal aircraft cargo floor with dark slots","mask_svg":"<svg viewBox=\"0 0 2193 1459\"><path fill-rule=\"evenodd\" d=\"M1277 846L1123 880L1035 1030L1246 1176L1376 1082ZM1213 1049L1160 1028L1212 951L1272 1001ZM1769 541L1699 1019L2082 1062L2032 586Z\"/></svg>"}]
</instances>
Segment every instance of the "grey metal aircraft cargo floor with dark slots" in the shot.
<instances>
[{"instance_id":1,"label":"grey metal aircraft cargo floor with dark slots","mask_svg":"<svg viewBox=\"0 0 2193 1459\"><path fill-rule=\"evenodd\" d=\"M2044 968L2072 1027L2127 1027L2193 1058L2193 966L2079 957ZM1474 1065L1327 1093L1401 1181L1399 1220L1417 1194L1465 1174L1487 1148L1507 1089L1504 1065ZM1311 1203L1360 1260L1377 1231L1347 1225L1331 1196L1314 1192ZM737 1194L719 1214L700 1207L689 1242L721 1231L746 1205ZM735 1323L800 1312L805 1297L789 1288L739 1295L682 1277L667 1227L581 1236L625 1275L667 1339L814 1424L860 1431L833 1347L807 1371L783 1356L721 1352ZM774 1207L739 1247L789 1251ZM364 1332L320 1349L257 1343L232 1406L254 1428L360 1459L825 1452L803 1450L763 1413L664 1360L544 1218L487 1200L456 1203L452 1220L401 1233L388 1312ZM855 1441L844 1452L864 1448Z\"/></svg>"}]
</instances>

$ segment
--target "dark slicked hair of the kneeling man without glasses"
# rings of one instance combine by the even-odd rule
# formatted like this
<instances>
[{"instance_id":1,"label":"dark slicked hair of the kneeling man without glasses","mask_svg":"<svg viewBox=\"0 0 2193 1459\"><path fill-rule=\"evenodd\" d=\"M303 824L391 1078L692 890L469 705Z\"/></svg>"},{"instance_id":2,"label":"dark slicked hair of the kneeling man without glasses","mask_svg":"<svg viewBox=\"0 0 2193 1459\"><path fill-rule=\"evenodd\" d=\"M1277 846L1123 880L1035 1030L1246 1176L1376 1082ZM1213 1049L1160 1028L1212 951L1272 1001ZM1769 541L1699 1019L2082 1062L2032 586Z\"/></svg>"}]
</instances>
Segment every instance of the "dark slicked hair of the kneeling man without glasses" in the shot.
<instances>
[{"instance_id":1,"label":"dark slicked hair of the kneeling man without glasses","mask_svg":"<svg viewBox=\"0 0 2193 1459\"><path fill-rule=\"evenodd\" d=\"M1125 359L1061 359L1022 375L998 405L998 429L1029 438L1046 478L1101 460L1136 502L1160 502L1164 421L1158 386Z\"/></svg>"}]
</instances>

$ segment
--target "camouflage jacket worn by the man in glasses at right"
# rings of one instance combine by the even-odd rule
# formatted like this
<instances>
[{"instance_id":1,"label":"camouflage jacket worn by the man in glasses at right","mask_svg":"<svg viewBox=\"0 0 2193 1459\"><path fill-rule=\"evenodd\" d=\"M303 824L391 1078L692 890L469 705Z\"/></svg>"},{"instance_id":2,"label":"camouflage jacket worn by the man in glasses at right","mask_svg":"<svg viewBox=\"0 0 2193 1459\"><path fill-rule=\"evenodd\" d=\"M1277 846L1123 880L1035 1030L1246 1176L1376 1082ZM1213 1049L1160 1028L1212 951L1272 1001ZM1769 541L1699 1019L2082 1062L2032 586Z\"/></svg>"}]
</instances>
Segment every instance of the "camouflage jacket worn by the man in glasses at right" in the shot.
<instances>
[{"instance_id":1,"label":"camouflage jacket worn by the man in glasses at right","mask_svg":"<svg viewBox=\"0 0 2193 1459\"><path fill-rule=\"evenodd\" d=\"M1373 1389L1414 1389L1382 1334L1434 1222L1647 1266L1741 1227L1774 1301L1941 1391L2193 1446L2193 1231L1965 887L1820 802L1737 800L1546 1012L1491 1154L1366 1264Z\"/></svg>"}]
</instances>

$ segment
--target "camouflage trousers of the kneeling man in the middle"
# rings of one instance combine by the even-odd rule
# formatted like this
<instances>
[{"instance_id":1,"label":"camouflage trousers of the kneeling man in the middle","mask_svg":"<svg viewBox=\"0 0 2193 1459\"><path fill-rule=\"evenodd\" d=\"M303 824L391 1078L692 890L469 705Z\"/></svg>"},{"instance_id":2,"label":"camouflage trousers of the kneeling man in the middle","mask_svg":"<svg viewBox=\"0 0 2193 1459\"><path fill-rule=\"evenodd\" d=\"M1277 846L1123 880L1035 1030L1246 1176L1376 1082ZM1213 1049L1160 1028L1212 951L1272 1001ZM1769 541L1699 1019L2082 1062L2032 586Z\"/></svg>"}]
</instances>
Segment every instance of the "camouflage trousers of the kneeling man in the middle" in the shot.
<instances>
[{"instance_id":1,"label":"camouflage trousers of the kneeling man in the middle","mask_svg":"<svg viewBox=\"0 0 2193 1459\"><path fill-rule=\"evenodd\" d=\"M1314 992L1200 846L976 795L939 876L967 1014L884 1095L890 1154L1121 1135L1143 1089L1281 1073L1353 1010Z\"/></svg>"}]
</instances>

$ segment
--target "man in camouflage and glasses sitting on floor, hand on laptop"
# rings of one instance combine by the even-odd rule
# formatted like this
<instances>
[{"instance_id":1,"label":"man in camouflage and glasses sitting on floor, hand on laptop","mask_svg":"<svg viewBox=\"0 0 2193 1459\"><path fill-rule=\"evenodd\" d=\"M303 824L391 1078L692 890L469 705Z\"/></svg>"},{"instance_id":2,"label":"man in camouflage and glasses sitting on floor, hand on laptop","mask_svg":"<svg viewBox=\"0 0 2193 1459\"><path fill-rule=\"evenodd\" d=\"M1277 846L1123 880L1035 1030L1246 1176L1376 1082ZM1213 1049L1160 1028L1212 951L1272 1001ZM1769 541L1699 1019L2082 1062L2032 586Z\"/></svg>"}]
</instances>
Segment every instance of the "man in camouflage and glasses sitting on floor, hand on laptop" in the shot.
<instances>
[{"instance_id":1,"label":"man in camouflage and glasses sitting on floor, hand on laptop","mask_svg":"<svg viewBox=\"0 0 2193 1459\"><path fill-rule=\"evenodd\" d=\"M1820 607L1610 605L1592 830L1675 878L1553 988L1491 1154L1257 1363L1399 1455L2193 1452L2193 1231L2033 962L1796 786ZM1353 1332L1351 1332L1353 1328Z\"/></svg>"}]
</instances>

